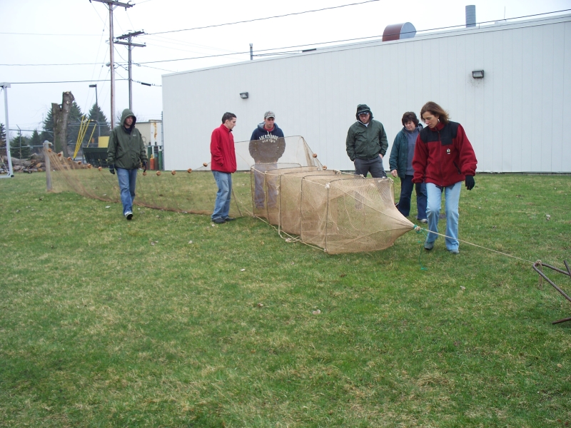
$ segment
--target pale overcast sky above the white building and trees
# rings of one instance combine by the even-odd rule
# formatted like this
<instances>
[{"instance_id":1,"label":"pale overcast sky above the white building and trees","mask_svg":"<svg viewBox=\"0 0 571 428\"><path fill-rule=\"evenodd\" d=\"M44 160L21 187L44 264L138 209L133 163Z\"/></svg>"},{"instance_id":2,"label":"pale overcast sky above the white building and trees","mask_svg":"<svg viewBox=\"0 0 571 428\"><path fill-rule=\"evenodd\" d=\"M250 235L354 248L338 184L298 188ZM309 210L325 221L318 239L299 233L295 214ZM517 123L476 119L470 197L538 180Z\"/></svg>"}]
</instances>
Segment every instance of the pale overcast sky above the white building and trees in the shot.
<instances>
[{"instance_id":1,"label":"pale overcast sky above the white building and trees","mask_svg":"<svg viewBox=\"0 0 571 428\"><path fill-rule=\"evenodd\" d=\"M419 32L462 26L466 4L476 5L479 23L571 9L571 0L363 1L141 0L132 1L134 6L128 9L118 7L113 12L115 36L141 30L147 34L133 39L135 43L146 44L144 48L133 48L133 81L156 85L143 86L133 82L133 111L138 121L161 118L163 74L248 61L249 44L253 44L256 54L268 49L291 51L327 46L324 42L345 44L349 39L382 36L385 26L407 21ZM81 110L87 113L96 101L90 83L97 84L98 103L110 118L106 4L90 3L89 0L1 0L1 4L4 19L0 31L0 81L11 83L8 90L10 128L40 130L51 103L61 103L64 91L71 91ZM348 4L353 5L216 26ZM203 26L214 27L193 29ZM193 30L176 31L183 29ZM163 33L165 31L171 32ZM289 49L289 46L298 45L303 47ZM127 78L127 48L116 45L115 51L116 79ZM224 54L232 55L216 56ZM182 60L199 56L211 58ZM359 64L355 69L358 70L355 78L366 76L366 64ZM367 81L374 78L367 76ZM68 83L26 83L53 81ZM279 84L268 76L268 85ZM192 102L191 97L188 102ZM0 122L4 123L4 102L0 104ZM128 84L118 80L116 111L126 107Z\"/></svg>"}]
</instances>

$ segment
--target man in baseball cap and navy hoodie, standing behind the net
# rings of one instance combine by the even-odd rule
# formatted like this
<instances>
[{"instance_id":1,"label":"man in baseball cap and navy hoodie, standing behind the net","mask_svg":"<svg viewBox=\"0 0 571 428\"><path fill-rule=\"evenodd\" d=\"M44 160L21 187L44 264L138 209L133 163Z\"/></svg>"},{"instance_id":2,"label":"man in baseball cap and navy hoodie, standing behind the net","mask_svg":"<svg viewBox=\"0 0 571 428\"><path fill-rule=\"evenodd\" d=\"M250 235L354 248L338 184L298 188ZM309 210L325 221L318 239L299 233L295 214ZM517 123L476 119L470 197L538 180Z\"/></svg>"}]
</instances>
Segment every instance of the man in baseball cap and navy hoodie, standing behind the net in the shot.
<instances>
[{"instance_id":1,"label":"man in baseball cap and navy hoodie, standing behind the net","mask_svg":"<svg viewBox=\"0 0 571 428\"><path fill-rule=\"evenodd\" d=\"M276 114L273 111L266 111L263 115L263 122L253 131L250 138L250 156L256 162L254 165L254 203L256 208L264 208L266 193L264 190L265 172L278 168L278 159L285 151L285 138L283 131L276 123ZM277 190L274 180L267 180L268 208L276 206Z\"/></svg>"}]
</instances>

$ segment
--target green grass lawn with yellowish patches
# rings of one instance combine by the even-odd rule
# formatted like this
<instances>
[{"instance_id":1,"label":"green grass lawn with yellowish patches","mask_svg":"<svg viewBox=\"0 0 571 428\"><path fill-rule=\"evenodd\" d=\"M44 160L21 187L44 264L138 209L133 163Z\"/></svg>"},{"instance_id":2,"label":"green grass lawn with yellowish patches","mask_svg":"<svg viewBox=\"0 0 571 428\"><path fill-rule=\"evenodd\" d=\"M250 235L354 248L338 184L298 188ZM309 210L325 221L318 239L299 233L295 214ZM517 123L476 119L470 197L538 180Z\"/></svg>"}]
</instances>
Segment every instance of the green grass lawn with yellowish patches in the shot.
<instances>
[{"instance_id":1,"label":"green grass lawn with yellowish patches","mask_svg":"<svg viewBox=\"0 0 571 428\"><path fill-rule=\"evenodd\" d=\"M571 176L462 192L460 239L571 261ZM250 217L127 222L43 173L0 180L0 222L0 426L571 424L571 322L551 324L571 305L531 263L414 232L328 255Z\"/></svg>"}]
</instances>

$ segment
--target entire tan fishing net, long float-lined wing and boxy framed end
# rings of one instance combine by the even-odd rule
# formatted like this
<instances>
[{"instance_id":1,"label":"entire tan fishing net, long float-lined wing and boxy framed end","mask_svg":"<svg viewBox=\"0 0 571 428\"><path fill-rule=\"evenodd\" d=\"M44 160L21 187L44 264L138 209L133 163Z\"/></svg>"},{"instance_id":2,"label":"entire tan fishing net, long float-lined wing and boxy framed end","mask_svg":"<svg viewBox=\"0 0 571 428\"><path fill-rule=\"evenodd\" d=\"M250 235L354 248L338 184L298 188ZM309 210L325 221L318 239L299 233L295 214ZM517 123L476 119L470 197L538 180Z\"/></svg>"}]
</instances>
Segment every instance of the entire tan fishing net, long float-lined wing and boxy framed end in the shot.
<instances>
[{"instance_id":1,"label":"entire tan fishing net, long float-lined wing and boxy framed end","mask_svg":"<svg viewBox=\"0 0 571 428\"><path fill-rule=\"evenodd\" d=\"M327 170L303 138L283 141L275 163L255 163L250 141L236 143L231 215L262 218L290 239L330 254L383 250L413 229L395 208L392 179ZM53 152L49 159L54 190L120 201L116 175L107 165L85 165ZM207 162L188 171L140 170L134 202L139 208L211 214L217 189L208 170Z\"/></svg>"}]
</instances>

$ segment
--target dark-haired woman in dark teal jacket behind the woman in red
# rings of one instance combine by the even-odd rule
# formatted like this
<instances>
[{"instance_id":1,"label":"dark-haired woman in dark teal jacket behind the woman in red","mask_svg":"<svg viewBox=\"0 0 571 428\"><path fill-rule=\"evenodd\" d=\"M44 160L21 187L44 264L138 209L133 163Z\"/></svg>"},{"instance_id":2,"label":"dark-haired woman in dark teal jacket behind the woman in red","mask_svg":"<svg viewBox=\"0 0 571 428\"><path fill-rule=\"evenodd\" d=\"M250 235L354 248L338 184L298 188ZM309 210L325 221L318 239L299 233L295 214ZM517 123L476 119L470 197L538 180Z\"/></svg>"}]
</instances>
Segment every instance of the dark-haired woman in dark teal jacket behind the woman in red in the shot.
<instances>
[{"instance_id":1,"label":"dark-haired woman in dark teal jacket behind the woman in red","mask_svg":"<svg viewBox=\"0 0 571 428\"><path fill-rule=\"evenodd\" d=\"M428 223L426 220L426 185L417 183L413 185L413 156L415 154L416 138L423 129L418 123L418 118L412 111L403 114L403 129L395 137L393 148L390 149L390 173L393 177L400 177L400 198L397 208L402 215L408 217L410 214L410 196L413 193L413 186L416 190L416 208L418 210L417 220L420 223Z\"/></svg>"}]
</instances>

